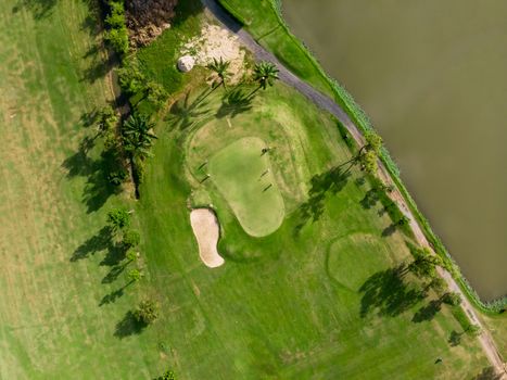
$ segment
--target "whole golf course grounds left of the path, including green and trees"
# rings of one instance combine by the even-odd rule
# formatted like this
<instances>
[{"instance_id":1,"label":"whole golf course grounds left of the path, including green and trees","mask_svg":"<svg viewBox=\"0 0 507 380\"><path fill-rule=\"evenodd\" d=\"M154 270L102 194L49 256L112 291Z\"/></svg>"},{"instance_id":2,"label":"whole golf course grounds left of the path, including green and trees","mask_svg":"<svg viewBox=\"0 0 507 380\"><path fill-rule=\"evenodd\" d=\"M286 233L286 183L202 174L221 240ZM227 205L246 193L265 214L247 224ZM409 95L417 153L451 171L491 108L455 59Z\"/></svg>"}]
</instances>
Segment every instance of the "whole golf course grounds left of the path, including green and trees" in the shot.
<instances>
[{"instance_id":1,"label":"whole golf course grounds left of the path, including green and trees","mask_svg":"<svg viewBox=\"0 0 507 380\"><path fill-rule=\"evenodd\" d=\"M118 53L112 1L0 4L1 380L491 371L369 172L375 142L257 75L200 1Z\"/></svg>"}]
</instances>

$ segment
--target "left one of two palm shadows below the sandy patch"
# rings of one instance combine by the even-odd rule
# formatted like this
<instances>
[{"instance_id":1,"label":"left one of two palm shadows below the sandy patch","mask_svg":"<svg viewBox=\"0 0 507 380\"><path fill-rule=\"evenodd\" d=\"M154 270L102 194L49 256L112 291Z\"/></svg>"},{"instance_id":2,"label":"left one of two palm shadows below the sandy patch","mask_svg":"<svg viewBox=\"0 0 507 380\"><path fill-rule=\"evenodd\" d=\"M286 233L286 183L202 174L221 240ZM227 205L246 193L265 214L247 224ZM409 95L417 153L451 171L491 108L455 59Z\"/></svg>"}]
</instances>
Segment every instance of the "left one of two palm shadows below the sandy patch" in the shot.
<instances>
[{"instance_id":1,"label":"left one of two palm shadows below the sandy patch","mask_svg":"<svg viewBox=\"0 0 507 380\"><path fill-rule=\"evenodd\" d=\"M182 99L172 105L168 121L180 130L185 130L208 115L211 110L206 109L208 105L205 101L206 92L207 90L204 90L192 103L190 103L190 91L187 92Z\"/></svg>"}]
</instances>

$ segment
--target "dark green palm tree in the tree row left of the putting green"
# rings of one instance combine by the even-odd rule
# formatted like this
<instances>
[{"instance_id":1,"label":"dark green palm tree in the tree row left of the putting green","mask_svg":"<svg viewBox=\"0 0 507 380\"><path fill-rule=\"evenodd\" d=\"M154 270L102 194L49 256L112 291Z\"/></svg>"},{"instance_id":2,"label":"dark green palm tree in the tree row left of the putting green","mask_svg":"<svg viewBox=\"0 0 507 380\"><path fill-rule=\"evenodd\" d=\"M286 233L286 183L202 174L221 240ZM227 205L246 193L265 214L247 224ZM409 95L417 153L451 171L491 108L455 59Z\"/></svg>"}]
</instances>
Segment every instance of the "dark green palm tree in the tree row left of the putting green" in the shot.
<instances>
[{"instance_id":1,"label":"dark green palm tree in the tree row left of the putting green","mask_svg":"<svg viewBox=\"0 0 507 380\"><path fill-rule=\"evenodd\" d=\"M131 115L123 125L124 148L134 157L141 160L150 156L150 148L156 136L151 132L154 123L142 114Z\"/></svg>"}]
</instances>

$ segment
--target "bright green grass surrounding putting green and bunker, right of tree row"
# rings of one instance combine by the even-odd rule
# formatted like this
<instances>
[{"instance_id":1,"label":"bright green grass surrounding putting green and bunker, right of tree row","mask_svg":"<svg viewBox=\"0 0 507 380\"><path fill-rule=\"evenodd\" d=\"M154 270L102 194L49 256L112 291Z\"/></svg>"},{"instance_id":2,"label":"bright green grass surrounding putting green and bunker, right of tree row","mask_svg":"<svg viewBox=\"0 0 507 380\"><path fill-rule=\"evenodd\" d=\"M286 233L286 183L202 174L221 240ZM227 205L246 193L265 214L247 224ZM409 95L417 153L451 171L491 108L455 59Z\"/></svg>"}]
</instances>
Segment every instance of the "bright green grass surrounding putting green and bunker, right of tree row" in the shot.
<instances>
[{"instance_id":1,"label":"bright green grass surrounding putting green and bunker, right of tree row","mask_svg":"<svg viewBox=\"0 0 507 380\"><path fill-rule=\"evenodd\" d=\"M165 307L151 332L165 339L180 376L466 378L485 366L476 341L448 345L459 325L447 308L414 322L428 300L404 309L406 294L389 295L383 274L408 258L404 237L382 237L391 220L378 216L380 205L360 205L368 188L356 183L360 174L337 172L350 153L335 123L281 85L226 121L216 119L220 97L183 129L170 117L159 126L138 207L150 282ZM205 157L244 137L274 142L271 167L282 168L275 175L289 214L264 238L244 232L213 181L199 181ZM215 205L223 232L226 263L213 270L189 225L189 202L203 200Z\"/></svg>"}]
</instances>

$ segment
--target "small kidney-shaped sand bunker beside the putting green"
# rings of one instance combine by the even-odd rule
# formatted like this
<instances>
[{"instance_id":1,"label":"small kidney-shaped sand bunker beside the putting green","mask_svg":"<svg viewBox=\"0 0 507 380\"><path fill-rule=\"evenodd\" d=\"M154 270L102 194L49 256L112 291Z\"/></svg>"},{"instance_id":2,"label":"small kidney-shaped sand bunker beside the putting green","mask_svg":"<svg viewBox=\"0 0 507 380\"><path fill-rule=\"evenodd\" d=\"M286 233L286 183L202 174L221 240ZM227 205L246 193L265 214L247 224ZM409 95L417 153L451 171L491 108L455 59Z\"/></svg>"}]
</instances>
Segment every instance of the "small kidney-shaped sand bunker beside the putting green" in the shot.
<instances>
[{"instance_id":1,"label":"small kidney-shaped sand bunker beside the putting green","mask_svg":"<svg viewBox=\"0 0 507 380\"><path fill-rule=\"evenodd\" d=\"M193 235L198 239L199 255L210 268L216 268L224 264L224 258L218 254L216 244L219 237L218 220L208 208L195 208L190 213L190 224Z\"/></svg>"}]
</instances>

